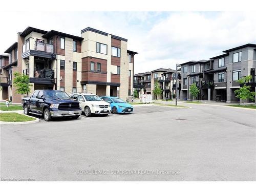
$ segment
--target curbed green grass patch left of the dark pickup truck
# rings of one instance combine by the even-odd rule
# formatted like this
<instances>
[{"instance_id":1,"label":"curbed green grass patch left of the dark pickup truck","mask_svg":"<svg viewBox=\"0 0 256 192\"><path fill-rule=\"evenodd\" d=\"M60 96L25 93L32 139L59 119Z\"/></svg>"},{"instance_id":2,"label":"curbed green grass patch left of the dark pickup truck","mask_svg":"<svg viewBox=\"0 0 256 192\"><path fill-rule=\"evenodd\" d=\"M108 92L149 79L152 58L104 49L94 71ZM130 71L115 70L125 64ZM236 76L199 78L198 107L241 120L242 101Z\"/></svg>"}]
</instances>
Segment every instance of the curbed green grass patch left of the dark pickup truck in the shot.
<instances>
[{"instance_id":1,"label":"curbed green grass patch left of the dark pickup truck","mask_svg":"<svg viewBox=\"0 0 256 192\"><path fill-rule=\"evenodd\" d=\"M18 113L0 113L0 121L6 122L22 122L22 121L33 121L35 118L28 117L26 115Z\"/></svg>"}]
</instances>

